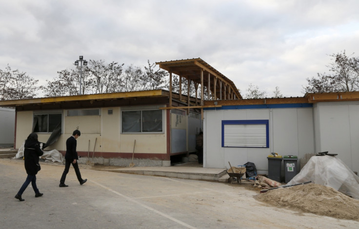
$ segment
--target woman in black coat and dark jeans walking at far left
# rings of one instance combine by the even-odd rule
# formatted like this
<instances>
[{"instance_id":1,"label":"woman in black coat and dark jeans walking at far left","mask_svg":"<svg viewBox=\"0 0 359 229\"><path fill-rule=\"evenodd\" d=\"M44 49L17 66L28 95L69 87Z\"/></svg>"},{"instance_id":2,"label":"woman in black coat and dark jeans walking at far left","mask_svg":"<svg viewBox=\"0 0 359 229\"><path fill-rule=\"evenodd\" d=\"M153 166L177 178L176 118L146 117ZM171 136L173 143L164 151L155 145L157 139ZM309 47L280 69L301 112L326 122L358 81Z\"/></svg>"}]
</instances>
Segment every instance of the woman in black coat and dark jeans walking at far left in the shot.
<instances>
[{"instance_id":1,"label":"woman in black coat and dark jeans walking at far left","mask_svg":"<svg viewBox=\"0 0 359 229\"><path fill-rule=\"evenodd\" d=\"M43 152L40 149L40 142L38 141L38 134L31 133L25 141L24 148L25 170L27 177L18 194L15 195L15 198L20 201L24 201L24 199L21 198L21 195L30 182L35 191L35 197L40 197L42 195L36 186L36 175L38 174L38 171L40 171L39 157L43 155Z\"/></svg>"}]
</instances>

